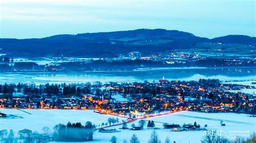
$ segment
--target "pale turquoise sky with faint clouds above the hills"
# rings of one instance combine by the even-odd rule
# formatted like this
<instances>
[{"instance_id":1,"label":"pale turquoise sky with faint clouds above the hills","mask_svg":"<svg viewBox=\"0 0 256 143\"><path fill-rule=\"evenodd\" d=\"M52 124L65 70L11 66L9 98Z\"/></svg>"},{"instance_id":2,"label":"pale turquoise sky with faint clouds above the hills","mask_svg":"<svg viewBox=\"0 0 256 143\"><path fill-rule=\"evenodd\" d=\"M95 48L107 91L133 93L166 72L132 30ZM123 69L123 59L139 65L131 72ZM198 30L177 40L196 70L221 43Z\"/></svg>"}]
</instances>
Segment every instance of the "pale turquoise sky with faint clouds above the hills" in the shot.
<instances>
[{"instance_id":1,"label":"pale turquoise sky with faint clouds above the hills","mask_svg":"<svg viewBox=\"0 0 256 143\"><path fill-rule=\"evenodd\" d=\"M255 0L0 0L0 38L164 28L255 37Z\"/></svg>"}]
</instances>

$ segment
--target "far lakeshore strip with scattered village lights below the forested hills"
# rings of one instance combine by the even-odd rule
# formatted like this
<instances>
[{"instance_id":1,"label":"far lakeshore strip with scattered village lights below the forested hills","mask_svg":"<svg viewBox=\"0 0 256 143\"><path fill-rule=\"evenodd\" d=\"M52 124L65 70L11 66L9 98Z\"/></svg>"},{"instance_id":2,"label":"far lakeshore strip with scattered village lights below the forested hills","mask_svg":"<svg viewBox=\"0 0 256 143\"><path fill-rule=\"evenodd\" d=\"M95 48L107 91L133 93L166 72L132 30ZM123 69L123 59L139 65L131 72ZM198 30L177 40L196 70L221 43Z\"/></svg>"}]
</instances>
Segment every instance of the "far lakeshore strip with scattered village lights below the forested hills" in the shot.
<instances>
[{"instance_id":1,"label":"far lakeshore strip with scattered village lights below the forested hills","mask_svg":"<svg viewBox=\"0 0 256 143\"><path fill-rule=\"evenodd\" d=\"M32 58L20 59L0 56L0 71L111 71L141 68L205 67L232 68L255 67L252 56L216 55L197 52L150 53L130 52L113 58Z\"/></svg>"}]
</instances>

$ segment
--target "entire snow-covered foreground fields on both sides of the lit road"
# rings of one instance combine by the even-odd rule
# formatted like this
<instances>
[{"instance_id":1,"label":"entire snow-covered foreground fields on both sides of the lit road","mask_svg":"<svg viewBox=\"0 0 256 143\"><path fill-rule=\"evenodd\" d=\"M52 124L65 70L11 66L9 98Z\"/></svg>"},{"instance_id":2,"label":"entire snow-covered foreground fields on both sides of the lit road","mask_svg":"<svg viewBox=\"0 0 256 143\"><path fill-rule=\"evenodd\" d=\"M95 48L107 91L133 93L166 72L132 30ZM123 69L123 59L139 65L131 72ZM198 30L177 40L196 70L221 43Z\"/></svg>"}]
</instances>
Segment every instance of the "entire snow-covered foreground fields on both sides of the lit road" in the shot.
<instances>
[{"instance_id":1,"label":"entire snow-covered foreground fields on both sides of the lit road","mask_svg":"<svg viewBox=\"0 0 256 143\"><path fill-rule=\"evenodd\" d=\"M92 110L24 110L30 112L31 115L17 109L0 109L0 111L23 117L16 119L0 119L0 130L4 128L13 128L16 132L24 128L42 132L41 129L44 126L52 128L56 124L66 124L68 121L79 121L82 124L85 124L85 122L89 120L97 125L102 124L103 122L105 123L109 117L116 118L116 116L111 115L100 115ZM125 119L126 118L119 118L119 121ZM164 142L166 137L169 137L172 142L200 142L201 138L203 138L203 132L200 131L171 132L170 129L163 128L164 123L174 123L182 126L184 123L193 124L194 121L196 121L201 127L204 127L204 125L207 124L208 129L221 130L223 135L227 138L233 138L235 135L249 135L256 131L256 118L237 113L200 113L181 111L169 115L146 118L145 120L146 122L147 120L153 120L156 127L160 128L157 130L157 133L162 142ZM220 126L220 120L223 120L226 126ZM132 124L138 126L139 120L133 121L132 123L127 124L127 126L131 127ZM122 125L109 128L120 130L118 129L120 127L122 127ZM96 131L93 135L92 142L109 142L113 135L117 137L118 142L123 142L124 139L129 141L133 133L138 136L140 142L147 142L153 129L147 129L145 125L144 129L141 131L120 131L121 132L116 133L99 133Z\"/></svg>"}]
</instances>

